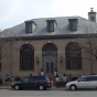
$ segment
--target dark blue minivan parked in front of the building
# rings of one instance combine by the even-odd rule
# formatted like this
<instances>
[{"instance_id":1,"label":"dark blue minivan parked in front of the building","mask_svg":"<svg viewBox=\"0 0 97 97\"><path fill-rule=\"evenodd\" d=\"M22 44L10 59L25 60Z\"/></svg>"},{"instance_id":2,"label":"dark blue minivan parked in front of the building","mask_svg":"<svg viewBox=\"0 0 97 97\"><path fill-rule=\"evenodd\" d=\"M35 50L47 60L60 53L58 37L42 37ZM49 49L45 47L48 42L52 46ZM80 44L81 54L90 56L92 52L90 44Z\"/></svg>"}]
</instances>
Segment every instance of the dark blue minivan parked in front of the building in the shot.
<instances>
[{"instance_id":1,"label":"dark blue minivan parked in front of the building","mask_svg":"<svg viewBox=\"0 0 97 97\"><path fill-rule=\"evenodd\" d=\"M23 88L37 88L44 90L52 87L52 83L46 76L26 76L11 85L15 90Z\"/></svg>"}]
</instances>

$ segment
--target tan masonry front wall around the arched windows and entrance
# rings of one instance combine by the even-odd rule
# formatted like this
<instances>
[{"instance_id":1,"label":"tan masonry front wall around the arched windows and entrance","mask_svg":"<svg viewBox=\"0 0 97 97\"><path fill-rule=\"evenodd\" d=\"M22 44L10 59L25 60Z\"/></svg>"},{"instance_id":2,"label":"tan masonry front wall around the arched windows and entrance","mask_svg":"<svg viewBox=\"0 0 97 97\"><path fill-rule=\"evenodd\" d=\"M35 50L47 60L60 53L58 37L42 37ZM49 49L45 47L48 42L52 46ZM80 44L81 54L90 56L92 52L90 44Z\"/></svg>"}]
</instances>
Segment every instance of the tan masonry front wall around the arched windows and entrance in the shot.
<instances>
[{"instance_id":1,"label":"tan masonry front wall around the arched windows and entrance","mask_svg":"<svg viewBox=\"0 0 97 97\"><path fill-rule=\"evenodd\" d=\"M10 55L7 55L4 58L2 58L2 68L0 72L0 76L9 74L12 77L15 76L28 76L31 73L32 74L39 74L42 68L42 48L46 43L53 43L57 47L57 71L58 74L66 74L72 76L80 76L82 73L84 75L90 74L90 71L93 71L94 74L97 74L97 63L94 61L94 63L90 63L90 60L85 60L85 57L89 58L90 55L88 53L85 53L82 50L82 69L66 69L66 61L65 61L65 48L68 43L71 42L77 42L80 44L80 39L50 39L50 40L22 40L20 42L15 42L12 45L12 62L10 62ZM84 40L85 42L85 40ZM20 71L20 48L24 44L31 44L34 47L34 71ZM35 62L35 57L39 57L39 64ZM63 57L63 63L60 62L60 56ZM93 66L93 69L90 69L90 64Z\"/></svg>"}]
</instances>

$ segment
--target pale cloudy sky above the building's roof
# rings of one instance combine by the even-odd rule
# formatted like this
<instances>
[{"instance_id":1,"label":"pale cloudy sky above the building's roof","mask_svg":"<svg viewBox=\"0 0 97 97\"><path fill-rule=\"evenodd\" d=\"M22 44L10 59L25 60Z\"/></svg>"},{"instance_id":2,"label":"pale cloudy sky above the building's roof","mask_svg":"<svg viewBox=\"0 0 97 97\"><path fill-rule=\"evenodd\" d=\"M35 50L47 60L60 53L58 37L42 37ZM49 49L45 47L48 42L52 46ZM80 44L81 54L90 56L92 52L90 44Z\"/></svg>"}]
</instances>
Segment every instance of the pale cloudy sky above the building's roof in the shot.
<instances>
[{"instance_id":1,"label":"pale cloudy sky above the building's roof","mask_svg":"<svg viewBox=\"0 0 97 97\"><path fill-rule=\"evenodd\" d=\"M88 19L90 8L97 12L97 0L0 0L0 30L37 18Z\"/></svg>"}]
</instances>

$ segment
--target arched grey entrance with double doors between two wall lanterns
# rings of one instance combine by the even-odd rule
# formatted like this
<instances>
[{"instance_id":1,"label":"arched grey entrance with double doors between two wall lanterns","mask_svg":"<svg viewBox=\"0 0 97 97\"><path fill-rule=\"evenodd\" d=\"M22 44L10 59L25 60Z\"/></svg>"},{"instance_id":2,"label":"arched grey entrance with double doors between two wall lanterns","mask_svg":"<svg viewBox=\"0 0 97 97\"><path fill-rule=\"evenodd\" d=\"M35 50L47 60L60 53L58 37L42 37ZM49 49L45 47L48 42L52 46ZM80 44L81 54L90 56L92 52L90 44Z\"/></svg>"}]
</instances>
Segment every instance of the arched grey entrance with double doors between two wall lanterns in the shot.
<instances>
[{"instance_id":1,"label":"arched grey entrance with double doors between two wall lanterns","mask_svg":"<svg viewBox=\"0 0 97 97\"><path fill-rule=\"evenodd\" d=\"M54 75L57 68L57 48L53 43L47 43L42 50L42 67L45 75Z\"/></svg>"}]
</instances>

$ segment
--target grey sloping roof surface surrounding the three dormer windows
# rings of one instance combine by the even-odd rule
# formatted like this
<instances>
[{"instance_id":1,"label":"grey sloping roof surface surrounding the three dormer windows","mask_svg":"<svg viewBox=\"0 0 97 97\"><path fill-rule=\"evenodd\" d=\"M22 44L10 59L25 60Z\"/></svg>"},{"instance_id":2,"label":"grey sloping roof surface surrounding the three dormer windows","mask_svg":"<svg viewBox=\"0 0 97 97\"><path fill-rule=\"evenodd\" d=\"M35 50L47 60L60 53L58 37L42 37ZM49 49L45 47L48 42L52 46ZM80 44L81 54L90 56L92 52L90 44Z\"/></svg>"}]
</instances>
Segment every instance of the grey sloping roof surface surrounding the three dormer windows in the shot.
<instances>
[{"instance_id":1,"label":"grey sloping roof surface surrounding the three dormer windows","mask_svg":"<svg viewBox=\"0 0 97 97\"><path fill-rule=\"evenodd\" d=\"M68 20L77 19L77 31L68 30ZM54 20L57 25L54 32L47 32L46 30L46 20ZM25 21L19 25L7 29L2 31L1 37L9 36L55 36L55 35L73 35L73 34L87 34L87 33L97 33L97 23L89 21L80 17L58 17L58 18L41 18L32 19L28 21L33 21L36 24L33 33L25 33Z\"/></svg>"}]
</instances>

